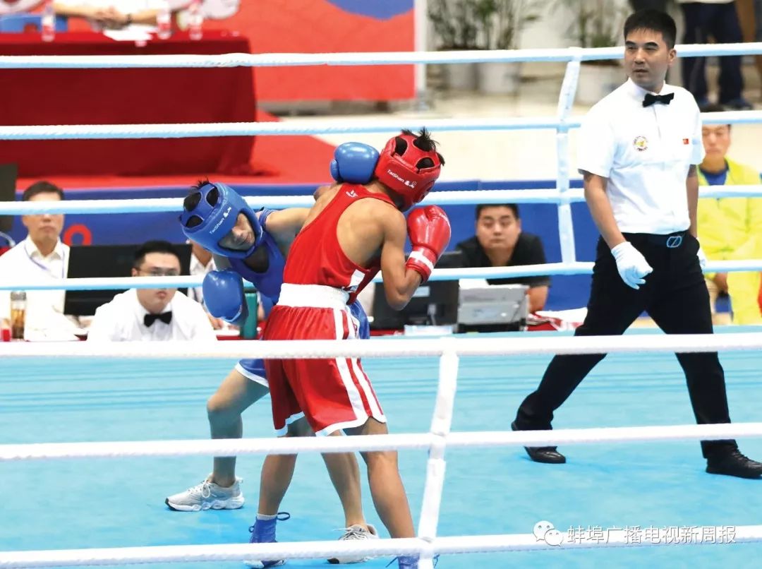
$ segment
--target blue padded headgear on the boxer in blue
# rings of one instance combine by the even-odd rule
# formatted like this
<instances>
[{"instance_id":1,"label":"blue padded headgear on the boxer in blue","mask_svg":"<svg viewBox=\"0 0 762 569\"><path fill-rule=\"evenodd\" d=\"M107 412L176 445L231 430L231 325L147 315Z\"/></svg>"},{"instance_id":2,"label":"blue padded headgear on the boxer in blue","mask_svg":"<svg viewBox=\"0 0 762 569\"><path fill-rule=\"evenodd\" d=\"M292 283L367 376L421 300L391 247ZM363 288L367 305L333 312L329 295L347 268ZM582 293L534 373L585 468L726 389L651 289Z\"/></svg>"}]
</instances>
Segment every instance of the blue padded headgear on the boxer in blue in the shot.
<instances>
[{"instance_id":1,"label":"blue padded headgear on the boxer in blue","mask_svg":"<svg viewBox=\"0 0 762 569\"><path fill-rule=\"evenodd\" d=\"M262 237L262 226L246 201L225 184L207 182L197 192L198 203L193 209L183 209L180 223L183 233L204 249L224 257L245 259L257 249ZM215 195L216 194L216 195ZM193 196L194 194L191 194ZM190 197L190 196L189 196ZM186 203L187 203L187 199ZM254 231L254 244L245 251L227 249L219 240L230 233L239 214L244 214Z\"/></svg>"}]
</instances>

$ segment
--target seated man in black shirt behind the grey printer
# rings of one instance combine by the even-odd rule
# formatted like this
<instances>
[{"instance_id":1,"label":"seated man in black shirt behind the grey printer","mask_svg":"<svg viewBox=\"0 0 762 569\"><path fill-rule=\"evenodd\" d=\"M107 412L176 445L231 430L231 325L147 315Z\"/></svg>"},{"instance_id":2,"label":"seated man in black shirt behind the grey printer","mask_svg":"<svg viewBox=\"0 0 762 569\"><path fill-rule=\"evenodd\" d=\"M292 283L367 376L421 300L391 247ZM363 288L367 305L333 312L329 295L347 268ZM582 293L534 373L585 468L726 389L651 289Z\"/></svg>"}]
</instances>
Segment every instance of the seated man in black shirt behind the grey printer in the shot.
<instances>
[{"instance_id":1,"label":"seated man in black shirt behind the grey printer","mask_svg":"<svg viewBox=\"0 0 762 569\"><path fill-rule=\"evenodd\" d=\"M545 249L539 237L521 230L517 204L476 206L476 235L457 244L466 267L515 267L543 265ZM543 310L548 300L550 277L490 278L489 284L529 286L529 311Z\"/></svg>"}]
</instances>

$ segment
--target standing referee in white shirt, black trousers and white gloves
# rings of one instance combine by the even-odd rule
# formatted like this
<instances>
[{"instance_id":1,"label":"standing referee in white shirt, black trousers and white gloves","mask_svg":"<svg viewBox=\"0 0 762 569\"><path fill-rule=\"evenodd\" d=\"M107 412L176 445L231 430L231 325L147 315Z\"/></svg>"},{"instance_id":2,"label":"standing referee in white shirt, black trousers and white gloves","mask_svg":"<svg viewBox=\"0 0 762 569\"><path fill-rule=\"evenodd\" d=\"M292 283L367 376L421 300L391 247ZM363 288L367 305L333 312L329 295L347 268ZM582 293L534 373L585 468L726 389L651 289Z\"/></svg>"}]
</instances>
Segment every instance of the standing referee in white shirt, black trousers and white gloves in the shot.
<instances>
[{"instance_id":1,"label":"standing referee in white shirt, black trousers and white gloves","mask_svg":"<svg viewBox=\"0 0 762 569\"><path fill-rule=\"evenodd\" d=\"M668 334L711 334L706 257L696 240L701 117L684 88L667 85L675 24L666 13L638 11L624 24L629 81L584 118L579 170L600 231L588 315L575 336L624 333L643 310ZM551 429L561 407L605 354L559 355L519 407L514 430ZM730 423L725 375L716 352L677 354L696 423ZM733 440L702 441L706 471L744 478L762 463ZM527 447L533 461L566 461L555 447Z\"/></svg>"}]
</instances>

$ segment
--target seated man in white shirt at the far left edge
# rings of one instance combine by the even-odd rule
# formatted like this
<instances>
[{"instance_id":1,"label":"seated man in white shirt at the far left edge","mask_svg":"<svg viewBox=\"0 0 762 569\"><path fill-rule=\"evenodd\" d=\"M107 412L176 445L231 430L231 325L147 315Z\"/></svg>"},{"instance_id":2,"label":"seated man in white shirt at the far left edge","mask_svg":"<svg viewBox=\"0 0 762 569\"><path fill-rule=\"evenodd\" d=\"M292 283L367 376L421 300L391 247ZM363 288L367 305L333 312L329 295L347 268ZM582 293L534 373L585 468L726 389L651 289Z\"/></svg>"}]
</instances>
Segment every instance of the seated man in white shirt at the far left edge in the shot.
<instances>
[{"instance_id":1,"label":"seated man in white shirt at the far left edge","mask_svg":"<svg viewBox=\"0 0 762 569\"><path fill-rule=\"evenodd\" d=\"M24 190L22 201L59 201L63 191L50 182L35 182ZM69 272L69 246L62 243L63 214L23 215L26 238L0 256L0 281L55 284ZM26 339L76 339L75 317L63 314L62 290L26 291ZM0 291L0 326L8 327L11 293Z\"/></svg>"}]
</instances>

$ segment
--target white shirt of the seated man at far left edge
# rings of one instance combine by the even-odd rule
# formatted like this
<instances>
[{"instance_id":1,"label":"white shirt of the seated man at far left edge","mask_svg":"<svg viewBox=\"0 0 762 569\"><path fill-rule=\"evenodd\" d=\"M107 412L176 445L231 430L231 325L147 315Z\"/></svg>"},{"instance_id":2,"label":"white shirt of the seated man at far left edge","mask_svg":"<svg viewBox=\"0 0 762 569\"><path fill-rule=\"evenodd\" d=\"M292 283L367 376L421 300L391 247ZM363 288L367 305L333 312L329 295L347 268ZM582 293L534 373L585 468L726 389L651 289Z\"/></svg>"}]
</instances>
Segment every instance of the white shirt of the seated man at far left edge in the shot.
<instances>
[{"instance_id":1,"label":"white shirt of the seated man at far left edge","mask_svg":"<svg viewBox=\"0 0 762 569\"><path fill-rule=\"evenodd\" d=\"M69 246L56 243L50 255L27 236L24 241L0 256L0 281L55 283L69 272ZM24 318L26 339L75 339L78 323L63 314L65 291L26 291L27 310ZM11 293L0 291L0 319L11 317Z\"/></svg>"}]
</instances>

